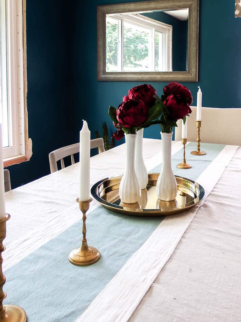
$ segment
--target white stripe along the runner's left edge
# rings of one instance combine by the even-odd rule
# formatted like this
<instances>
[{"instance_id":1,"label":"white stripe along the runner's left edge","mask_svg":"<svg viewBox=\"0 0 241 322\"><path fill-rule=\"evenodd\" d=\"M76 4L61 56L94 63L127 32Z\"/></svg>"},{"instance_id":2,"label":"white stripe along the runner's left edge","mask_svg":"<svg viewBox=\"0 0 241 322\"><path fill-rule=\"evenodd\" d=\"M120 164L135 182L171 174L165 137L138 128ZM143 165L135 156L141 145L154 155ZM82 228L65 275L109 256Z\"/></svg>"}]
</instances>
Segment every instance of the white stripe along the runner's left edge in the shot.
<instances>
[{"instance_id":1,"label":"white stripe along the runner's left edge","mask_svg":"<svg viewBox=\"0 0 241 322\"><path fill-rule=\"evenodd\" d=\"M182 142L177 141L172 145L172 155L179 151L183 147ZM147 170L153 169L162 162L162 152L156 154L156 156L147 160L146 167ZM89 212L94 210L99 206L97 201L93 200L90 203ZM27 257L32 251L40 248L45 243L49 242L54 237L57 237L61 232L71 227L77 221L81 219L81 213L79 207L72 206L67 211L58 213L56 217L38 227L33 232L24 235L23 237L15 240L8 245L6 251L4 251L4 262L3 271L9 269L24 257ZM21 245L21 247L19 247ZM18 250L18 256L16 256L16 249Z\"/></svg>"}]
</instances>

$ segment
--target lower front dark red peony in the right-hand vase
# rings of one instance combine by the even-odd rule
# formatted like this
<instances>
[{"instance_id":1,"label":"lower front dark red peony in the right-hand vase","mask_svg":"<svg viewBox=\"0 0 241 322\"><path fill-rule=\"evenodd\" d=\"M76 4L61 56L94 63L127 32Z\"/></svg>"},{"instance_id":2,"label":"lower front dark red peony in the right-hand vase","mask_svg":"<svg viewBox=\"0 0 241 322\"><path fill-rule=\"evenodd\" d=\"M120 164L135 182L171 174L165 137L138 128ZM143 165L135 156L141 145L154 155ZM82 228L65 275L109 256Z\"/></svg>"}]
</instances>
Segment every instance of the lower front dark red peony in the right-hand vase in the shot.
<instances>
[{"instance_id":1,"label":"lower front dark red peony in the right-hand vase","mask_svg":"<svg viewBox=\"0 0 241 322\"><path fill-rule=\"evenodd\" d=\"M171 117L175 120L184 118L189 113L192 113L189 104L184 103L180 98L174 95L169 95L165 101L164 105L167 107Z\"/></svg>"}]
</instances>

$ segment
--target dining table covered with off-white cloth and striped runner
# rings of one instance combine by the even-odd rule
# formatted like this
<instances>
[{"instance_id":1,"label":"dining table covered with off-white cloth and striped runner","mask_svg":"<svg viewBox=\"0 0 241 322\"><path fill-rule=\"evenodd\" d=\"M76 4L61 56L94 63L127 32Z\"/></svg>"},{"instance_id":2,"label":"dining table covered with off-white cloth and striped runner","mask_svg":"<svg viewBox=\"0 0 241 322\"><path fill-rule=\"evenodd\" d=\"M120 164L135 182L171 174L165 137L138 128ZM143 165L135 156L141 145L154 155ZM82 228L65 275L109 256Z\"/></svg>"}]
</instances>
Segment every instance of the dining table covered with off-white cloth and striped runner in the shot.
<instances>
[{"instance_id":1,"label":"dining table covered with off-white cloth and striped runner","mask_svg":"<svg viewBox=\"0 0 241 322\"><path fill-rule=\"evenodd\" d=\"M134 217L93 198L86 238L101 258L90 266L68 261L82 239L79 163L5 193L4 304L24 308L28 322L241 321L241 147L195 148L187 142L192 168L178 169L183 144L172 141L174 174L205 189L188 211ZM125 144L92 156L90 187L123 174L125 157ZM162 141L144 138L143 158L159 173Z\"/></svg>"}]
</instances>

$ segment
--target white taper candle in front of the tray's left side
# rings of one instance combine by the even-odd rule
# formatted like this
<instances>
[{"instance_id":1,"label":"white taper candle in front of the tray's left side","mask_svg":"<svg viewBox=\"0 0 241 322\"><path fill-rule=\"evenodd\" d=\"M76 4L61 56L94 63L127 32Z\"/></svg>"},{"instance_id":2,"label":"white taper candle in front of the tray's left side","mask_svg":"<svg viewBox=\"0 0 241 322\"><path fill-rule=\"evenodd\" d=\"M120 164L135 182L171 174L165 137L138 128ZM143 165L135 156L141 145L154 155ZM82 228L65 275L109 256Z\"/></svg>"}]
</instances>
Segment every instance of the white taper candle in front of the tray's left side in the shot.
<instances>
[{"instance_id":1,"label":"white taper candle in front of the tray's left side","mask_svg":"<svg viewBox=\"0 0 241 322\"><path fill-rule=\"evenodd\" d=\"M83 120L82 130L79 132L79 200L90 199L90 130Z\"/></svg>"}]
</instances>

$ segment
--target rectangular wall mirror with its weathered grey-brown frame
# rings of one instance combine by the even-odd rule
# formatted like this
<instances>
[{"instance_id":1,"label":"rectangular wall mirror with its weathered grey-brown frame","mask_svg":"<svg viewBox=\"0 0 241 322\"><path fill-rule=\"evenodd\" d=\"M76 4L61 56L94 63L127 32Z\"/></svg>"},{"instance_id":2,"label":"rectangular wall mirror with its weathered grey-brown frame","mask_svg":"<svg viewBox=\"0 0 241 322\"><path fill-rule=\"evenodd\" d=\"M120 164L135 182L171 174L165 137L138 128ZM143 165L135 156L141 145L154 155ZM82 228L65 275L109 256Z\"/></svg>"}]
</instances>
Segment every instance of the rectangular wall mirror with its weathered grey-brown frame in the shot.
<instances>
[{"instance_id":1,"label":"rectangular wall mirror with its weathered grey-brown frame","mask_svg":"<svg viewBox=\"0 0 241 322\"><path fill-rule=\"evenodd\" d=\"M97 6L97 80L197 81L198 0Z\"/></svg>"}]
</instances>

